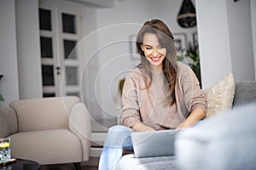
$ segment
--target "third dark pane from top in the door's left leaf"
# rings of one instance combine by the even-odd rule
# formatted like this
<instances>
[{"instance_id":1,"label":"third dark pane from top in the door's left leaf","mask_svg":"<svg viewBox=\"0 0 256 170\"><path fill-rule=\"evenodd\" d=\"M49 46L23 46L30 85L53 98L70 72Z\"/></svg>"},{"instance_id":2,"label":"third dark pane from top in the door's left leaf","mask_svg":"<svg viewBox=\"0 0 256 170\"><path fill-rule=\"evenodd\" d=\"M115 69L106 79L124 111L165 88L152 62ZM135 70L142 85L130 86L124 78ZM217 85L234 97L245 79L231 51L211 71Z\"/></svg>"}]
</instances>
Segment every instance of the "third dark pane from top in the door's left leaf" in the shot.
<instances>
[{"instance_id":1,"label":"third dark pane from top in the door's left leaf","mask_svg":"<svg viewBox=\"0 0 256 170\"><path fill-rule=\"evenodd\" d=\"M54 86L54 67L53 65L42 65L43 86Z\"/></svg>"}]
</instances>

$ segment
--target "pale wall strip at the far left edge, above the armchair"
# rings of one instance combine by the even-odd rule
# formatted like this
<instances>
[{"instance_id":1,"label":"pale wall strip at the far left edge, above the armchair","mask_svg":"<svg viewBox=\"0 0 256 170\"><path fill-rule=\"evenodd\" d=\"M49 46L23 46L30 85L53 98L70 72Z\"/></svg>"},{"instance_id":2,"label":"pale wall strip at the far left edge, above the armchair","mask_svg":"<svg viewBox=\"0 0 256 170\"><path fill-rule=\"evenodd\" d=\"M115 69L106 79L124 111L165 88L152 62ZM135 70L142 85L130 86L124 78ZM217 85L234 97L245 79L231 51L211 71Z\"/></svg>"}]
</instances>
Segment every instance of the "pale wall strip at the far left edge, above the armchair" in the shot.
<instances>
[{"instance_id":1,"label":"pale wall strip at the far left edge, above the armchair","mask_svg":"<svg viewBox=\"0 0 256 170\"><path fill-rule=\"evenodd\" d=\"M0 107L8 106L10 101L19 99L18 66L15 33L15 0L1 0L0 4L0 94L4 102Z\"/></svg>"}]
</instances>

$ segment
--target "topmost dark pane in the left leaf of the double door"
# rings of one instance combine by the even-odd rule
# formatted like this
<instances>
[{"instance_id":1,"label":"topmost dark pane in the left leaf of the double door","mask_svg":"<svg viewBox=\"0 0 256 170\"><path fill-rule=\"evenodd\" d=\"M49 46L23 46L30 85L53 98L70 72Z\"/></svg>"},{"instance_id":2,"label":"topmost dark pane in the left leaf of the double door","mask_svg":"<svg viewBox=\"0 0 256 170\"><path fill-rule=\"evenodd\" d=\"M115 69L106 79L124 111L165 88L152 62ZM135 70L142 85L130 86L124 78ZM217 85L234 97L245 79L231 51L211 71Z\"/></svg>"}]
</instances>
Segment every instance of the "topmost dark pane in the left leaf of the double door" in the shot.
<instances>
[{"instance_id":1,"label":"topmost dark pane in the left leaf of the double door","mask_svg":"<svg viewBox=\"0 0 256 170\"><path fill-rule=\"evenodd\" d=\"M39 8L40 30L51 31L50 10Z\"/></svg>"}]
</instances>

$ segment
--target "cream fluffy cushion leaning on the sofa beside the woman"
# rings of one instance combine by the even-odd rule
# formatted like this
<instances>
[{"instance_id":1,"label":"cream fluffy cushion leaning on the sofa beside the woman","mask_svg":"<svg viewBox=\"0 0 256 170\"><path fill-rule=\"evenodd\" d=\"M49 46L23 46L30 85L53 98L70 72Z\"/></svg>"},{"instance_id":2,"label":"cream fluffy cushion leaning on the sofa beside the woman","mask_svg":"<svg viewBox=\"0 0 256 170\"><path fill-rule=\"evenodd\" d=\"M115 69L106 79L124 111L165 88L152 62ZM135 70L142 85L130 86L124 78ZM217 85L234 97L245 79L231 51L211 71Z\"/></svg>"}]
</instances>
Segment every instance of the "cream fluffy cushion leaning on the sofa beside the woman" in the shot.
<instances>
[{"instance_id":1,"label":"cream fluffy cushion leaning on the sofa beside the woman","mask_svg":"<svg viewBox=\"0 0 256 170\"><path fill-rule=\"evenodd\" d=\"M207 98L207 117L230 109L235 93L233 74L229 73L211 88L203 89L203 92Z\"/></svg>"}]
</instances>

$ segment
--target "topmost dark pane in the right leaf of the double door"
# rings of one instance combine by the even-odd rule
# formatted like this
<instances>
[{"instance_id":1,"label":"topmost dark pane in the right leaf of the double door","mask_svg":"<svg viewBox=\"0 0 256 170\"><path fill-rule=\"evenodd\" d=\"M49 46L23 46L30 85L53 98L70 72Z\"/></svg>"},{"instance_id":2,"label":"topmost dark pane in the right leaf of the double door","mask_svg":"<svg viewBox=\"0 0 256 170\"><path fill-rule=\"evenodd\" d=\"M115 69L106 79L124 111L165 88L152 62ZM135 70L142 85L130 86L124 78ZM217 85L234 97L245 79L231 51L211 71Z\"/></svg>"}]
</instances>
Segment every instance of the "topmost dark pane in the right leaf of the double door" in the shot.
<instances>
[{"instance_id":1,"label":"topmost dark pane in the right leaf of the double door","mask_svg":"<svg viewBox=\"0 0 256 170\"><path fill-rule=\"evenodd\" d=\"M62 31L67 33L76 33L75 15L62 13Z\"/></svg>"}]
</instances>

